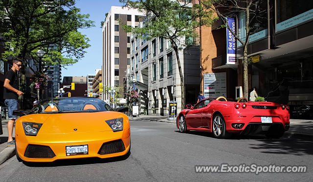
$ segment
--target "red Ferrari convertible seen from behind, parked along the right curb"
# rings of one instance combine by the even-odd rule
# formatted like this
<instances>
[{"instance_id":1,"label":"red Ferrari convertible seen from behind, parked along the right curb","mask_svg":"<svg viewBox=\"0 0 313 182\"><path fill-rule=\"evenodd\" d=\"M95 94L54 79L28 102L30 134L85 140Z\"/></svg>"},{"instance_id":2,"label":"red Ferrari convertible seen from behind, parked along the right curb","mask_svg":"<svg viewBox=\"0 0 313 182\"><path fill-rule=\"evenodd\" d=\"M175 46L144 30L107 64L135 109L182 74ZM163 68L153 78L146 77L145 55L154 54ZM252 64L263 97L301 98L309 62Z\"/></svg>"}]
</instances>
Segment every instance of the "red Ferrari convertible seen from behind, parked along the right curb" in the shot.
<instances>
[{"instance_id":1,"label":"red Ferrari convertible seen from behind, parked along the right curb","mask_svg":"<svg viewBox=\"0 0 313 182\"><path fill-rule=\"evenodd\" d=\"M289 106L273 102L237 102L225 97L205 98L194 107L187 105L177 117L179 132L189 130L212 132L216 138L231 134L265 134L270 138L282 137L290 126Z\"/></svg>"}]
</instances>

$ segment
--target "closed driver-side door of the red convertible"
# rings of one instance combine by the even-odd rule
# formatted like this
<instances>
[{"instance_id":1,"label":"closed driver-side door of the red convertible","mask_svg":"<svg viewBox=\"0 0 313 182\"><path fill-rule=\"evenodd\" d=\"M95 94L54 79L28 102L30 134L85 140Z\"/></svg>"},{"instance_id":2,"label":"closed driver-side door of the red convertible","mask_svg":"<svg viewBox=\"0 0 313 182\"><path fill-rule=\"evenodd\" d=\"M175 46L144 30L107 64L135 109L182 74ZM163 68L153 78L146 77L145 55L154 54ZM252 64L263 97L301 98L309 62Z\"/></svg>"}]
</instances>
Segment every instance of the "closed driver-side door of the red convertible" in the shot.
<instances>
[{"instance_id":1,"label":"closed driver-side door of the red convertible","mask_svg":"<svg viewBox=\"0 0 313 182\"><path fill-rule=\"evenodd\" d=\"M204 109L204 101L196 104L194 109L189 110L185 115L187 128L202 128L202 111Z\"/></svg>"}]
</instances>

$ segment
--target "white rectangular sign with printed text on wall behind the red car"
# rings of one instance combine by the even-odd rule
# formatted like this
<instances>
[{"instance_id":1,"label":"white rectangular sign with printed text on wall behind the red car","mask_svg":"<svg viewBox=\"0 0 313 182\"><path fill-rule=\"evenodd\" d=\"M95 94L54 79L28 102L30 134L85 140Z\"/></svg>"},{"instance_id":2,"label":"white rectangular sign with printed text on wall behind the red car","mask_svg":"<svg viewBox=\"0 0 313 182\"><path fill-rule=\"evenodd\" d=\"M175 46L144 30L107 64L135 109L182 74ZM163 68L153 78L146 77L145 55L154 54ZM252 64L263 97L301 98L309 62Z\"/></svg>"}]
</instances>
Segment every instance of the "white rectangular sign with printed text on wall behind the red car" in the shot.
<instances>
[{"instance_id":1,"label":"white rectangular sign with printed text on wall behind the red car","mask_svg":"<svg viewBox=\"0 0 313 182\"><path fill-rule=\"evenodd\" d=\"M226 97L226 73L205 73L203 79L203 95L207 97Z\"/></svg>"}]
</instances>

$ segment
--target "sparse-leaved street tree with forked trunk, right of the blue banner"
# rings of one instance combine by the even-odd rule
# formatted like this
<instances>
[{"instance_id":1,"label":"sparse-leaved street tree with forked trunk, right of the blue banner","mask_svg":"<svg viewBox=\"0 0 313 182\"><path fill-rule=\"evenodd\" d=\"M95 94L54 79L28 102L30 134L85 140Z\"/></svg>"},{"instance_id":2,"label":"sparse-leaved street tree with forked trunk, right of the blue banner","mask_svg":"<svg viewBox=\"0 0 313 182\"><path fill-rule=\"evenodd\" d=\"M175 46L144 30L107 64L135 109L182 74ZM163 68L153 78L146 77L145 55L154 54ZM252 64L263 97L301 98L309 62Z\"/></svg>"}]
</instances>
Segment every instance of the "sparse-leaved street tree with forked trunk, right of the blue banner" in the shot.
<instances>
[{"instance_id":1,"label":"sparse-leaved street tree with forked trunk, right of the blue banner","mask_svg":"<svg viewBox=\"0 0 313 182\"><path fill-rule=\"evenodd\" d=\"M267 21L264 15L267 13L267 8L262 6L267 0L199 0L205 9L212 10L217 13L219 18L224 23L232 35L241 45L243 45L243 82L244 82L244 97L248 98L248 50L247 45L250 40L250 35L258 31L258 25L263 21ZM267 6L266 6L267 7ZM228 25L226 18L236 18L239 12L246 12L246 36L239 36L233 32ZM244 32L241 32L244 33Z\"/></svg>"}]
</instances>

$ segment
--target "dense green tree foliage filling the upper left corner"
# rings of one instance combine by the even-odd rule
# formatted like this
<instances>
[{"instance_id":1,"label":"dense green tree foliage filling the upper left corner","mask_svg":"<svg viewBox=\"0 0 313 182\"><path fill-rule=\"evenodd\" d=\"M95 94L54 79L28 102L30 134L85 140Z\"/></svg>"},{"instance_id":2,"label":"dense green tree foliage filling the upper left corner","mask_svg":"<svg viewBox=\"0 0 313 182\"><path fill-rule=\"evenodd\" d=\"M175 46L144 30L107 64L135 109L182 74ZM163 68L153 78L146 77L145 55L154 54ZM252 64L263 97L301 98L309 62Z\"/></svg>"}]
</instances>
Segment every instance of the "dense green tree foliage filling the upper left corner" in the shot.
<instances>
[{"instance_id":1,"label":"dense green tree foliage filling the upper left corner","mask_svg":"<svg viewBox=\"0 0 313 182\"><path fill-rule=\"evenodd\" d=\"M84 57L89 39L78 29L93 22L74 4L75 0L0 0L0 35L7 48L2 59L38 60L38 49L46 52L46 67L70 65Z\"/></svg>"}]
</instances>

